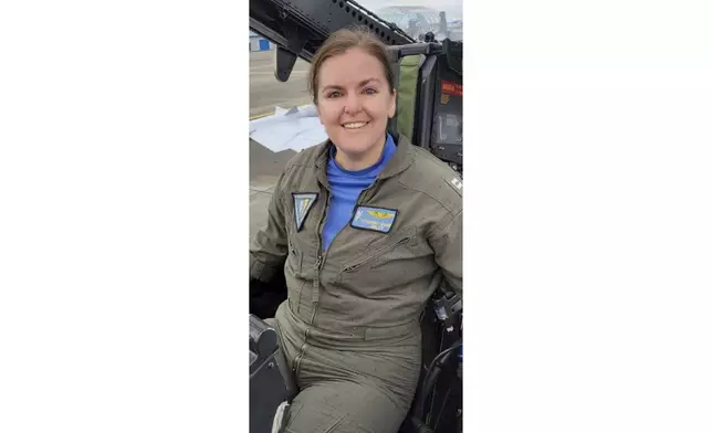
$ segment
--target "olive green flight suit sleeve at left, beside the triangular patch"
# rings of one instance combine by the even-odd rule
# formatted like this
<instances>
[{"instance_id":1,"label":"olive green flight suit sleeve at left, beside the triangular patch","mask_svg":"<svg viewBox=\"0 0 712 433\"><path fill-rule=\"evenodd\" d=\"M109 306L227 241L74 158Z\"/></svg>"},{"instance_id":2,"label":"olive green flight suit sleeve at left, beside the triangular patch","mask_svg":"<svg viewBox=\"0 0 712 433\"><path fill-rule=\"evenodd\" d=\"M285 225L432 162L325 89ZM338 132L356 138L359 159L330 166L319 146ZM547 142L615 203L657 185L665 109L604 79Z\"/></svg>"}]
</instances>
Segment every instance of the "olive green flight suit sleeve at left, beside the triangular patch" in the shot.
<instances>
[{"instance_id":1,"label":"olive green flight suit sleeve at left, beside the triangular patch","mask_svg":"<svg viewBox=\"0 0 712 433\"><path fill-rule=\"evenodd\" d=\"M284 172L280 176L268 207L265 224L250 242L250 279L270 283L282 272L287 256L286 221L282 197Z\"/></svg>"}]
</instances>

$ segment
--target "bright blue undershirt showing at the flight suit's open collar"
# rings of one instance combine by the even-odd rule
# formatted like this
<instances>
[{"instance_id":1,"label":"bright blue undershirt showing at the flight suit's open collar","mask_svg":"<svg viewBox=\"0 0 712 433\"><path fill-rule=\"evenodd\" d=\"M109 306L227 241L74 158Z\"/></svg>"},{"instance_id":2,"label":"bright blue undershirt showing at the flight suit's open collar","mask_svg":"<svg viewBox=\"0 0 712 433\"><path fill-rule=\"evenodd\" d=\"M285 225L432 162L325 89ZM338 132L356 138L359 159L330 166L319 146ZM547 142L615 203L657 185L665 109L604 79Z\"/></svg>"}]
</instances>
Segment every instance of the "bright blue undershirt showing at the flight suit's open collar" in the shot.
<instances>
[{"instance_id":1,"label":"bright blue undershirt showing at the flight suit's open collar","mask_svg":"<svg viewBox=\"0 0 712 433\"><path fill-rule=\"evenodd\" d=\"M370 187L396 152L396 142L390 134L386 135L386 146L380 159L363 170L349 171L339 167L332 152L326 166L326 177L332 190L332 199L326 213L326 224L322 232L324 251L328 249L336 234L352 219L354 207L363 190Z\"/></svg>"}]
</instances>

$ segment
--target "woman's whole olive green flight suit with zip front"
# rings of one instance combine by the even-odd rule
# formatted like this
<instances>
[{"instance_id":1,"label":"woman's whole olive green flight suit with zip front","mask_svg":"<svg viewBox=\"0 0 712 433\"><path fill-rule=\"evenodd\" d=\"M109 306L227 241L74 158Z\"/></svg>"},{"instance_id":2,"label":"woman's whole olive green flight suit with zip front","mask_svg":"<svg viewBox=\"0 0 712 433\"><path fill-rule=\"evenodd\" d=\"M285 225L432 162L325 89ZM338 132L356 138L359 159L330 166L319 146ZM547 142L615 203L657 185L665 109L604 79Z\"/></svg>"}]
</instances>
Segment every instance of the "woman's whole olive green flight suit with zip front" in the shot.
<instances>
[{"instance_id":1,"label":"woman's whole olive green flight suit with zip front","mask_svg":"<svg viewBox=\"0 0 712 433\"><path fill-rule=\"evenodd\" d=\"M332 146L287 163L252 241L250 276L284 272L287 284L270 323L297 388L286 431L396 433L419 378L420 314L443 281L462 293L462 182L400 136L354 209L354 219L360 205L381 209L375 218L391 223L363 229L352 220L324 253ZM295 207L299 194L315 194L306 212Z\"/></svg>"}]
</instances>

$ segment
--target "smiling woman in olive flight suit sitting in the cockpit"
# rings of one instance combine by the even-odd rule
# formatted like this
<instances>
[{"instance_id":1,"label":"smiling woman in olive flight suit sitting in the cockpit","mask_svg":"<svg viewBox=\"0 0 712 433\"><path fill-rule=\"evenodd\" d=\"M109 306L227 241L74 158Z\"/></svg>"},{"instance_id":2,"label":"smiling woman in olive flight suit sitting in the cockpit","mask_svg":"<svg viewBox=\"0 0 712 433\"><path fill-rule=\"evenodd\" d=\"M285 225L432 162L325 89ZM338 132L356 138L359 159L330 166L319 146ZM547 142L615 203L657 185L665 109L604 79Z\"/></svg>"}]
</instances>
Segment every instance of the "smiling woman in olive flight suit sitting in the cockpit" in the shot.
<instances>
[{"instance_id":1,"label":"smiling woman in olive flight suit sitting in the cockpit","mask_svg":"<svg viewBox=\"0 0 712 433\"><path fill-rule=\"evenodd\" d=\"M395 433L420 373L420 313L443 279L461 293L462 183L387 134L394 76L369 33L332 34L310 91L328 140L287 163L250 249L252 279L286 279L269 321L297 387L286 431Z\"/></svg>"}]
</instances>

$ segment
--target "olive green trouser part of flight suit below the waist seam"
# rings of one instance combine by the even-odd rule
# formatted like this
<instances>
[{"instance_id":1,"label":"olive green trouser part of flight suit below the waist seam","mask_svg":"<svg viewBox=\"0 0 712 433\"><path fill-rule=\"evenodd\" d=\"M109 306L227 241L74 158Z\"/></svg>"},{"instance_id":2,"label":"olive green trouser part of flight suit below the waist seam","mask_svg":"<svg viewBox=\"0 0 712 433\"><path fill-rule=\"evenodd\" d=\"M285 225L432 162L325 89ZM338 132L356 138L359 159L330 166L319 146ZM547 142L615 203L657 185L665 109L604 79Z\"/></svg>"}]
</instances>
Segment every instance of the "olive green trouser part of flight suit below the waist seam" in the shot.
<instances>
[{"instance_id":1,"label":"olive green trouser part of flight suit below the waist seam","mask_svg":"<svg viewBox=\"0 0 712 433\"><path fill-rule=\"evenodd\" d=\"M397 345L304 339L308 324L282 304L275 317L290 380L285 433L396 433L405 420L420 372L419 332ZM306 350L303 349L304 346Z\"/></svg>"}]
</instances>

